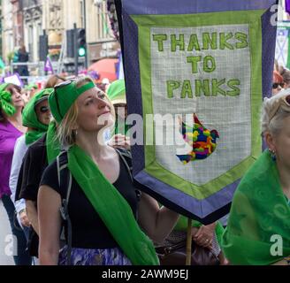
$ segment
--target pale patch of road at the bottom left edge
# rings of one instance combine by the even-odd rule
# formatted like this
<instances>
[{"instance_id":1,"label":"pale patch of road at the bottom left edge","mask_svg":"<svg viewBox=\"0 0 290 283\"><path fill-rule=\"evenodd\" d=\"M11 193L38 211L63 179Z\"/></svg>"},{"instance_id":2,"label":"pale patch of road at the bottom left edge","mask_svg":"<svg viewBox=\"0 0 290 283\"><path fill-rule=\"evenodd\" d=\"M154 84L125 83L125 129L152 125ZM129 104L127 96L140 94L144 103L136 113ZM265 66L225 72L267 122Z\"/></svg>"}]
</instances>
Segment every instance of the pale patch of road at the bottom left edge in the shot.
<instances>
[{"instance_id":1,"label":"pale patch of road at the bottom left edge","mask_svg":"<svg viewBox=\"0 0 290 283\"><path fill-rule=\"evenodd\" d=\"M7 242L7 235L11 233L8 217L4 210L3 203L0 201L0 265L14 265L12 256L5 255L5 247L9 244Z\"/></svg>"}]
</instances>

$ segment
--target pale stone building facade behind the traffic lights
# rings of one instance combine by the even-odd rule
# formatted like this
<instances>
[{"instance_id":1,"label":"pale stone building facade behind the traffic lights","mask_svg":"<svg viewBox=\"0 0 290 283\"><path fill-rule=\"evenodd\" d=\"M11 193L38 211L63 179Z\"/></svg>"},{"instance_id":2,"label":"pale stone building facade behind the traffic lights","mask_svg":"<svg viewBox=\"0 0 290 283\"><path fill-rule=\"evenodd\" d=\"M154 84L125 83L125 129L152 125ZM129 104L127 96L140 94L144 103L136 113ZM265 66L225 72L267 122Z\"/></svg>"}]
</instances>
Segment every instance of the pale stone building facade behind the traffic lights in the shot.
<instances>
[{"instance_id":1,"label":"pale stone building facade behind the traffic lights","mask_svg":"<svg viewBox=\"0 0 290 283\"><path fill-rule=\"evenodd\" d=\"M39 60L39 38L49 35L51 48L65 42L65 31L86 28L88 64L117 56L119 44L111 32L104 0L2 0L2 50L4 60L24 44L29 61Z\"/></svg>"}]
</instances>

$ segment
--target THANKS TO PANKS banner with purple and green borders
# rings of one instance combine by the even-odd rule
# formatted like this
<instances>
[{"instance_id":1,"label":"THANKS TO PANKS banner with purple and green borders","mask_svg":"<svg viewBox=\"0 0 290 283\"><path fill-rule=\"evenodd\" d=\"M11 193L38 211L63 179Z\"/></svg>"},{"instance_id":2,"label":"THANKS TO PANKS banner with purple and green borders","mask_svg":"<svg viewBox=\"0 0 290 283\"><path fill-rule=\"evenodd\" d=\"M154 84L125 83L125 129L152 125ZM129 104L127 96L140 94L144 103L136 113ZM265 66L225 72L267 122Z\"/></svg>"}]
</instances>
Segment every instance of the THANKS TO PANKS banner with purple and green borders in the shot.
<instances>
[{"instance_id":1,"label":"THANKS TO PANKS banner with purple and green borders","mask_svg":"<svg viewBox=\"0 0 290 283\"><path fill-rule=\"evenodd\" d=\"M128 113L143 123L142 142L131 129L134 179L173 210L213 222L262 152L276 1L117 3Z\"/></svg>"}]
</instances>

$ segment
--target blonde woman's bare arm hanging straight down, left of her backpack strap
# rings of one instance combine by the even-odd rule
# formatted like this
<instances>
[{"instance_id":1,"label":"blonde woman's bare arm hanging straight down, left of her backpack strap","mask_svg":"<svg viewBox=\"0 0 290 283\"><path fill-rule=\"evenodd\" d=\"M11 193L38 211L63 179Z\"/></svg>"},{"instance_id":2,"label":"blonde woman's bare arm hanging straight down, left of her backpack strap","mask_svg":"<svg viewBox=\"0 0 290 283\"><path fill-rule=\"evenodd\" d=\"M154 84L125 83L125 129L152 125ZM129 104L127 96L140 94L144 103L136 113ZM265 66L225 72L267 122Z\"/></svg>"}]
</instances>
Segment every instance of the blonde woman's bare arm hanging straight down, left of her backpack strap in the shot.
<instances>
[{"instance_id":1,"label":"blonde woman's bare arm hanging straight down, left of her backpack strap","mask_svg":"<svg viewBox=\"0 0 290 283\"><path fill-rule=\"evenodd\" d=\"M39 224L39 260L41 265L57 265L61 229L60 195L48 186L39 188L37 207Z\"/></svg>"}]
</instances>

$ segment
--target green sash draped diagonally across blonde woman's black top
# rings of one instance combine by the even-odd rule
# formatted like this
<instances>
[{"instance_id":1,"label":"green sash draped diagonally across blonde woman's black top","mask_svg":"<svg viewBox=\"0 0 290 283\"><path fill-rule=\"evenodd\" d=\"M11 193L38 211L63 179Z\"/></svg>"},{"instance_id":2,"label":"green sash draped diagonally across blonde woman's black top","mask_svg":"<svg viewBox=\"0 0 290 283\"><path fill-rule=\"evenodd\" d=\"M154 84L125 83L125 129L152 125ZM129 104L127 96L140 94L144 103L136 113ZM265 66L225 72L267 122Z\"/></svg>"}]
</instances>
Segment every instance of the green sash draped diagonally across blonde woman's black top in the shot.
<instances>
[{"instance_id":1,"label":"green sash draped diagonally across blonde woman's black top","mask_svg":"<svg viewBox=\"0 0 290 283\"><path fill-rule=\"evenodd\" d=\"M152 241L141 231L131 207L78 146L68 150L68 168L132 264L158 264Z\"/></svg>"}]
</instances>

